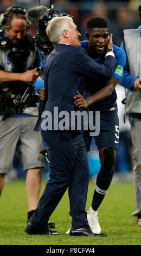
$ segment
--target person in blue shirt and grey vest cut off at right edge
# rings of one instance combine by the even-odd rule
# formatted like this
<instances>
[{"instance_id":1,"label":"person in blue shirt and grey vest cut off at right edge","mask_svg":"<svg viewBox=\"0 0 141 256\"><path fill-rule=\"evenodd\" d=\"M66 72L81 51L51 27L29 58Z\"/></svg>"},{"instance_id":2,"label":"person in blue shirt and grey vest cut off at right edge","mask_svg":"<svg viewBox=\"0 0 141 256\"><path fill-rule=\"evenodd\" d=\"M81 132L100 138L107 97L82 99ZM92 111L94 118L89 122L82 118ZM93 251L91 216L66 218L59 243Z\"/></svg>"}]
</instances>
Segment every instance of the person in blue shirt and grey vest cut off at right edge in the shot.
<instances>
[{"instance_id":1,"label":"person in blue shirt and grey vest cut off at right edge","mask_svg":"<svg viewBox=\"0 0 141 256\"><path fill-rule=\"evenodd\" d=\"M141 4L138 7L141 18ZM133 143L133 181L137 217L136 225L141 226L141 71L140 45L141 26L138 29L125 29L121 49L126 53L126 63L120 84L127 88L125 112L129 115L130 132Z\"/></svg>"}]
</instances>

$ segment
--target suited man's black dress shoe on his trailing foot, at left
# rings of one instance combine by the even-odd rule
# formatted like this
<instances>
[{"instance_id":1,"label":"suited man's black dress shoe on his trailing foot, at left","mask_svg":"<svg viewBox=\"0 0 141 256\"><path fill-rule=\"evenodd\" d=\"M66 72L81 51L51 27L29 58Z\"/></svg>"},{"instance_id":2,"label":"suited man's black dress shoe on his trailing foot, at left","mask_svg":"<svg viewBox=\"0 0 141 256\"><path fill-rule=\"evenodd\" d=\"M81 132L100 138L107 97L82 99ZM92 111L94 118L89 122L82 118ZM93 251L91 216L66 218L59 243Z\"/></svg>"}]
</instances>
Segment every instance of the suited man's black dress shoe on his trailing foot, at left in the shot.
<instances>
[{"instance_id":1,"label":"suited man's black dress shoe on his trailing foot, at left","mask_svg":"<svg viewBox=\"0 0 141 256\"><path fill-rule=\"evenodd\" d=\"M25 227L25 232L29 235L58 235L59 233L55 230L50 230L48 227L44 230L34 228L33 224L29 222Z\"/></svg>"}]
</instances>

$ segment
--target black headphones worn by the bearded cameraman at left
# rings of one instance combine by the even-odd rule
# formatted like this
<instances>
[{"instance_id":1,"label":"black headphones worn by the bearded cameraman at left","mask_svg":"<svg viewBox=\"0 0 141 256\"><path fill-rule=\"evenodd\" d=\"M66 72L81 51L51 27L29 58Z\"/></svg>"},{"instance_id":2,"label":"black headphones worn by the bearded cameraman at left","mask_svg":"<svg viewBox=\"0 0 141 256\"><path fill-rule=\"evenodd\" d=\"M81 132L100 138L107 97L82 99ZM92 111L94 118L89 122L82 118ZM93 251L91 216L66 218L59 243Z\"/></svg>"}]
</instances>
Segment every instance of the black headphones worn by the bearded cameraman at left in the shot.
<instances>
[{"instance_id":1,"label":"black headphones worn by the bearded cameraman at left","mask_svg":"<svg viewBox=\"0 0 141 256\"><path fill-rule=\"evenodd\" d=\"M8 10L6 13L1 14L1 25L4 26L4 24L7 22L8 14L12 13L20 13L25 15L27 12L22 6L14 5L10 10Z\"/></svg>"}]
</instances>

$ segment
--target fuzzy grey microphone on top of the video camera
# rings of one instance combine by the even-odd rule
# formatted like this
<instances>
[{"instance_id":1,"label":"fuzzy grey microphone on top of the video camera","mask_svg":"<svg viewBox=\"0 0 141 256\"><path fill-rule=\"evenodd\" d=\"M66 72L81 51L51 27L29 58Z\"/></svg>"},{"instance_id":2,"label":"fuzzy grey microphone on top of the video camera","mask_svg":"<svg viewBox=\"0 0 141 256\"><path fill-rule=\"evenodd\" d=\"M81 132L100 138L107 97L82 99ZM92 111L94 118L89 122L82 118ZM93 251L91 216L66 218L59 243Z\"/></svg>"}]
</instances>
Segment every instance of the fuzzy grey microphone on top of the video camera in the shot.
<instances>
[{"instance_id":1,"label":"fuzzy grey microphone on top of the video camera","mask_svg":"<svg viewBox=\"0 0 141 256\"><path fill-rule=\"evenodd\" d=\"M44 5L39 5L37 7L31 8L27 11L27 19L31 22L38 22L42 20L45 16L48 17L48 8Z\"/></svg>"}]
</instances>

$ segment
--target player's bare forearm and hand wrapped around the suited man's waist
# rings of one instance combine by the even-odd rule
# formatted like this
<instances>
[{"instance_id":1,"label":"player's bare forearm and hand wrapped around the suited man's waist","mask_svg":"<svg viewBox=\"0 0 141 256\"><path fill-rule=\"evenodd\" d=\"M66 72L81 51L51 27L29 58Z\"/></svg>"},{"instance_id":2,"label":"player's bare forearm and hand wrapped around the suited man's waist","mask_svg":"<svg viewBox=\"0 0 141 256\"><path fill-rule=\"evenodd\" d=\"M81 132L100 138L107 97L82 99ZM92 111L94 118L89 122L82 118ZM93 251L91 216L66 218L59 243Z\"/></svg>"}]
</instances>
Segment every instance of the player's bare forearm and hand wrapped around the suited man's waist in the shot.
<instances>
[{"instance_id":1,"label":"player's bare forearm and hand wrapped around the suited man's waist","mask_svg":"<svg viewBox=\"0 0 141 256\"><path fill-rule=\"evenodd\" d=\"M109 97L112 94L117 83L118 83L118 79L115 77L112 77L110 80L106 82L105 87L102 87L100 90L98 90L97 93L87 97L86 99L84 99L84 97L78 92L78 95L74 96L75 106L78 106L79 108L80 107L86 108L88 106L93 105L94 103L97 103L99 101L106 99L106 97Z\"/></svg>"}]
</instances>

